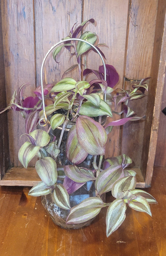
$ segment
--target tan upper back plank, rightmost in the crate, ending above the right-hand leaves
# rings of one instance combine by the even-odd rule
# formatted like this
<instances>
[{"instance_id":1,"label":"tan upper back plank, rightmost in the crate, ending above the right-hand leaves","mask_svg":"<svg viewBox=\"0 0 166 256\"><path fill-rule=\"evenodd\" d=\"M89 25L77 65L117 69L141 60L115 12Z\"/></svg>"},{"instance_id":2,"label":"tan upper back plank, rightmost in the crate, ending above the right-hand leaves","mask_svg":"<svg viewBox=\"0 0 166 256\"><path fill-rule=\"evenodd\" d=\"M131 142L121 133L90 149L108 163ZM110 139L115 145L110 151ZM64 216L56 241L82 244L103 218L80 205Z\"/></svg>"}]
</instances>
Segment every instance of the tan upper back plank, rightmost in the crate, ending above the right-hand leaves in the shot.
<instances>
[{"instance_id":1,"label":"tan upper back plank, rightmost in the crate, ending above the right-hand leaves","mask_svg":"<svg viewBox=\"0 0 166 256\"><path fill-rule=\"evenodd\" d=\"M158 0L131 0L125 77L141 80L151 71Z\"/></svg>"}]
</instances>

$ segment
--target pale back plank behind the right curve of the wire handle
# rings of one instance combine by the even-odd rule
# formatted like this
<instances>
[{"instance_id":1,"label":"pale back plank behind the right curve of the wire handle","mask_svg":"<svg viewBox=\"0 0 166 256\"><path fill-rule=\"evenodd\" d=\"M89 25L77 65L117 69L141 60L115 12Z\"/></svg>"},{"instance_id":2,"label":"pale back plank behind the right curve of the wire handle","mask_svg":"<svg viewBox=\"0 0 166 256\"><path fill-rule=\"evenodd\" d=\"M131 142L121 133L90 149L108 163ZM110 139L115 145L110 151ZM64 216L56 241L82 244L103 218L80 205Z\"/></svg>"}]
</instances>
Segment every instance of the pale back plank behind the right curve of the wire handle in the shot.
<instances>
[{"instance_id":1,"label":"pale back plank behind the right curve of the wire handle","mask_svg":"<svg viewBox=\"0 0 166 256\"><path fill-rule=\"evenodd\" d=\"M83 1L83 20L95 19L95 26L89 24L87 28L97 33L99 43L107 44L108 48L101 47L101 49L107 58L106 63L113 65L120 76L117 87L122 87L123 84L127 13L128 1L111 0L105 2L105 4L100 0L96 0L95 4L93 1ZM99 56L91 53L88 56L88 67L98 69L99 65L102 65ZM109 119L109 121L111 120ZM119 137L120 128L114 127L108 137L106 157L119 154Z\"/></svg>"}]
</instances>

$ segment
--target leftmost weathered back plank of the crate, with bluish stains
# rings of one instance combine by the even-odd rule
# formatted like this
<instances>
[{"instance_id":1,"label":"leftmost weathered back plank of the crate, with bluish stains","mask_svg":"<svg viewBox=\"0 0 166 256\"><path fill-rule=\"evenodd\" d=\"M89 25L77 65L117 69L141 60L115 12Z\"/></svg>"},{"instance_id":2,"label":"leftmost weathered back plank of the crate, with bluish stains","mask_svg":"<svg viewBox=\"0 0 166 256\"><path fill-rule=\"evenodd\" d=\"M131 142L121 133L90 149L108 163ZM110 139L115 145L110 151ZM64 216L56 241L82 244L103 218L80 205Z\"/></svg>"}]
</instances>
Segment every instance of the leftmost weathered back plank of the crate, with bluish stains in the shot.
<instances>
[{"instance_id":1,"label":"leftmost weathered back plank of the crate, with bluish stains","mask_svg":"<svg viewBox=\"0 0 166 256\"><path fill-rule=\"evenodd\" d=\"M1 1L3 45L5 56L5 77L7 103L10 102L14 90L29 82L25 96L31 95L35 89L35 58L33 1ZM11 165L20 166L18 150L24 139L25 121L16 111L9 111L9 148Z\"/></svg>"}]
</instances>

